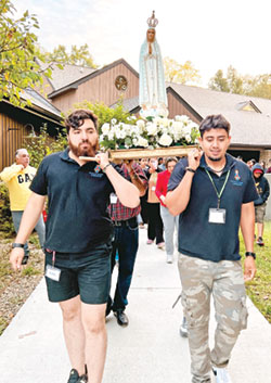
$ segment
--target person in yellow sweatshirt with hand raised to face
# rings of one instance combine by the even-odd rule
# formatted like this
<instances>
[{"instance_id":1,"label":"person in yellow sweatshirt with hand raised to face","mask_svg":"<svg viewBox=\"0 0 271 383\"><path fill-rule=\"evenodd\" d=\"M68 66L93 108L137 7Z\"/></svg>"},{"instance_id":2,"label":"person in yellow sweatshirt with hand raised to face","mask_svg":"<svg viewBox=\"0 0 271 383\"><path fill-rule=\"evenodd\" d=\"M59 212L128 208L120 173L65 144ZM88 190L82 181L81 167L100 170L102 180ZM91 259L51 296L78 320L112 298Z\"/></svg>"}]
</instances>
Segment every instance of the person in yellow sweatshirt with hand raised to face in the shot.
<instances>
[{"instance_id":1,"label":"person in yellow sweatshirt with hand raised to face","mask_svg":"<svg viewBox=\"0 0 271 383\"><path fill-rule=\"evenodd\" d=\"M18 149L15 152L15 163L5 167L2 173L0 173L0 179L9 189L12 220L16 232L18 231L27 201L31 194L29 186L35 175L36 168L29 165L29 154L26 149ZM35 230L39 235L40 247L43 248L46 227L42 216L40 216ZM23 264L26 264L29 257L27 242L25 243L24 250L25 256Z\"/></svg>"}]
</instances>

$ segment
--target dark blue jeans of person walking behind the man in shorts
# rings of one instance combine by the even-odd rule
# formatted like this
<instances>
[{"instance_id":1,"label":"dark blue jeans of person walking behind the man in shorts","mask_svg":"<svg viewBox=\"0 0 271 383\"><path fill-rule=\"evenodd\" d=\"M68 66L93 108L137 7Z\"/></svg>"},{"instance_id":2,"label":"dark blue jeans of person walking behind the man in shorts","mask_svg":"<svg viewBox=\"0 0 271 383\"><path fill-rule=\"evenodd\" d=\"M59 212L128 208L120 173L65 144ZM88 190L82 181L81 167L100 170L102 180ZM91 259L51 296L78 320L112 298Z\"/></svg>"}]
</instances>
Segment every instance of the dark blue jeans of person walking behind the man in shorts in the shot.
<instances>
[{"instance_id":1,"label":"dark blue jeans of person walking behind the man in shorts","mask_svg":"<svg viewBox=\"0 0 271 383\"><path fill-rule=\"evenodd\" d=\"M112 251L112 272L116 264L116 252L118 253L118 279L114 301L109 296L108 305L112 304L113 311L125 309L128 305L127 295L131 285L133 266L139 247L139 228L136 219L134 225L122 225L115 227L115 238Z\"/></svg>"}]
</instances>

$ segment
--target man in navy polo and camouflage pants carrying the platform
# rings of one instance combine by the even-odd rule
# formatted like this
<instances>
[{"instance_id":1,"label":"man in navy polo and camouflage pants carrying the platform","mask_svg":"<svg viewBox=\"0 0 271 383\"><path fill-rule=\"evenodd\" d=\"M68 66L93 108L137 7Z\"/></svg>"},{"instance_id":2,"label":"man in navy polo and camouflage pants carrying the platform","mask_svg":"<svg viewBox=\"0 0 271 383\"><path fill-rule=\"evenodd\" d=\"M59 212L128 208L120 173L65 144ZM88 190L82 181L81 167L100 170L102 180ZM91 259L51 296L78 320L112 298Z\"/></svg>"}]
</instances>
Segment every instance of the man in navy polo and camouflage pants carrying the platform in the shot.
<instances>
[{"instance_id":1,"label":"man in navy polo and camouflage pants carrying the platform","mask_svg":"<svg viewBox=\"0 0 271 383\"><path fill-rule=\"evenodd\" d=\"M188 320L193 383L231 383L225 369L238 333L246 328L245 280L256 272L254 200L248 167L227 154L230 124L221 115L199 126L198 150L175 167L166 203L179 221L179 272ZM246 246L244 276L238 246L241 226ZM208 345L210 294L216 309L215 347Z\"/></svg>"}]
</instances>

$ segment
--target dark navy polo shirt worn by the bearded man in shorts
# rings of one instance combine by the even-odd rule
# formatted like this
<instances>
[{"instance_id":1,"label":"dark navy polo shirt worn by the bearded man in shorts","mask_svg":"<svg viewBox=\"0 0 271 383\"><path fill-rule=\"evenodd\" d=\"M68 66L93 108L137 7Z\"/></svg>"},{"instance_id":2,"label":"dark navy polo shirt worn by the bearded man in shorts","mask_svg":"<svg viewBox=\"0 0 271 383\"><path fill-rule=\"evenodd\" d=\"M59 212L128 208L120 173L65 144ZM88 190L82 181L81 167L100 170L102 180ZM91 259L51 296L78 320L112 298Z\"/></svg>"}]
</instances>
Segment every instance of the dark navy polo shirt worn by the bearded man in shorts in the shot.
<instances>
[{"instance_id":1,"label":"dark navy polo shirt worn by the bearded man in shorts","mask_svg":"<svg viewBox=\"0 0 271 383\"><path fill-rule=\"evenodd\" d=\"M83 253L111 237L107 206L114 189L95 162L80 166L67 150L51 154L41 162L30 190L49 199L46 248Z\"/></svg>"}]
</instances>

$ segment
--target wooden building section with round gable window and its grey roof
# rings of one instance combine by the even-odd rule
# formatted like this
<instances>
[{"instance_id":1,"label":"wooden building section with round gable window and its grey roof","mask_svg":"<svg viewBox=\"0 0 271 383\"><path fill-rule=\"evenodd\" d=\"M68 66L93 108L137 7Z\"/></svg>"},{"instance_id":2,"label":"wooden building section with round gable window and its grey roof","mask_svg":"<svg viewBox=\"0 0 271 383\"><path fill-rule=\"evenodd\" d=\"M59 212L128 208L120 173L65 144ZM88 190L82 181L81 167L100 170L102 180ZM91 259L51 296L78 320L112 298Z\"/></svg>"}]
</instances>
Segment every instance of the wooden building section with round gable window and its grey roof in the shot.
<instances>
[{"instance_id":1,"label":"wooden building section with round gable window and its grey roof","mask_svg":"<svg viewBox=\"0 0 271 383\"><path fill-rule=\"evenodd\" d=\"M120 98L130 99L139 92L139 74L124 59L101 69L66 65L64 71L54 68L52 77L43 90L64 113L78 102L112 105Z\"/></svg>"}]
</instances>

